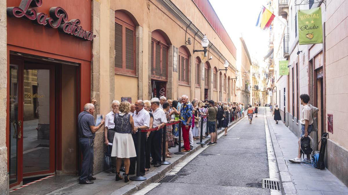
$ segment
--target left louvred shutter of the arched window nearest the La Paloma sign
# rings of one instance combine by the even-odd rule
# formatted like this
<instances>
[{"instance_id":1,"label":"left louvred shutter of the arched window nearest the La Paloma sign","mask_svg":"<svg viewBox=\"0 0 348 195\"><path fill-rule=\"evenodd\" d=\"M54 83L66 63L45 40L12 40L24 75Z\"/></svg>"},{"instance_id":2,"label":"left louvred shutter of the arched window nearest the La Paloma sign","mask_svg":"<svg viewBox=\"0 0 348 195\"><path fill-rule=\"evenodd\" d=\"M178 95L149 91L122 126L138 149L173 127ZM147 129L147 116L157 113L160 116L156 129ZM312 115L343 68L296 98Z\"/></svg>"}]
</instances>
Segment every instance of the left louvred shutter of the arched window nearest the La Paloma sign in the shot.
<instances>
[{"instance_id":1,"label":"left louvred shutter of the arched window nearest the La Paloma sign","mask_svg":"<svg viewBox=\"0 0 348 195\"><path fill-rule=\"evenodd\" d=\"M122 25L115 23L115 62L114 62L114 66L116 68L123 68L122 64L123 64L123 50L122 50L122 40L123 40L123 36L122 36Z\"/></svg>"}]
</instances>

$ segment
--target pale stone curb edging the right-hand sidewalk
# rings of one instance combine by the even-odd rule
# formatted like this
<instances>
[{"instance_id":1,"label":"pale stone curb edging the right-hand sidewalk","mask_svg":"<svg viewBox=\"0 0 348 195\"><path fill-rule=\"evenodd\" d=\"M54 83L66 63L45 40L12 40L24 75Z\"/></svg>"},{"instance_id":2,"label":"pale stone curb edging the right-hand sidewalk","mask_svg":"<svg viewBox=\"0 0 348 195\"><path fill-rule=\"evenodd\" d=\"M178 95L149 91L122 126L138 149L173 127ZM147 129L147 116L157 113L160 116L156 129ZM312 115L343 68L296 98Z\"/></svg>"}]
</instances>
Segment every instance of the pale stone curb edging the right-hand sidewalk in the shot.
<instances>
[{"instance_id":1,"label":"pale stone curb edging the right-hand sidewalk","mask_svg":"<svg viewBox=\"0 0 348 195\"><path fill-rule=\"evenodd\" d=\"M273 127L270 124L270 120L266 113L264 113L264 115L266 115L267 125L272 140L273 152L276 156L279 179L280 183L282 183L282 194L298 194L295 185L292 182L282 149L280 149L276 134L274 133Z\"/></svg>"}]
</instances>

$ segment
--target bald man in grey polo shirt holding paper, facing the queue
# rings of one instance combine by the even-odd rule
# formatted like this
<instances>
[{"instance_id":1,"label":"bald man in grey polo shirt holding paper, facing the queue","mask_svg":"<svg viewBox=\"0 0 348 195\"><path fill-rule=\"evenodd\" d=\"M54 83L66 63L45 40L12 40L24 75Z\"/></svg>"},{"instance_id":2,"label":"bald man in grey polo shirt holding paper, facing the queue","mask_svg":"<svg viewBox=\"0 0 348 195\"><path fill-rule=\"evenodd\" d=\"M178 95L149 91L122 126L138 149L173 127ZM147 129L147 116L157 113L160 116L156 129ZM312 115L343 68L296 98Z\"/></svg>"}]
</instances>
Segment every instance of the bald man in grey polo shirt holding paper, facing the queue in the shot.
<instances>
[{"instance_id":1,"label":"bald man in grey polo shirt holding paper, facing the queue","mask_svg":"<svg viewBox=\"0 0 348 195\"><path fill-rule=\"evenodd\" d=\"M93 184L95 177L92 176L93 166L93 141L95 132L100 129L104 124L104 119L98 126L95 126L94 122L94 105L87 103L84 106L84 111L79 113L77 123L79 128L79 146L83 155L81 176L79 178L80 184Z\"/></svg>"}]
</instances>

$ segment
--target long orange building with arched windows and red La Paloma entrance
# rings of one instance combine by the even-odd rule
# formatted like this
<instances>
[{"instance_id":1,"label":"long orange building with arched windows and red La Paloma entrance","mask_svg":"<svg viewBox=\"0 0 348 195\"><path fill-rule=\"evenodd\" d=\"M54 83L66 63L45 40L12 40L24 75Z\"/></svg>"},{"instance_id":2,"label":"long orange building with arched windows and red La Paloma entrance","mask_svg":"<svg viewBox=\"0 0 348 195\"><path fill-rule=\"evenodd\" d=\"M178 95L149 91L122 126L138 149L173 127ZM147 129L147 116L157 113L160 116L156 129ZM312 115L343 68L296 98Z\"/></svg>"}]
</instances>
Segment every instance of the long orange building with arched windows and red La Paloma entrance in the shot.
<instances>
[{"instance_id":1,"label":"long orange building with arched windows and red La Paloma entrance","mask_svg":"<svg viewBox=\"0 0 348 195\"><path fill-rule=\"evenodd\" d=\"M0 5L0 60L7 70L0 85L6 110L0 115L6 135L1 194L26 178L79 173L77 115L91 98L97 100L95 117L110 112L112 100L186 94L190 100L236 101L236 48L208 0ZM204 35L210 40L206 56L195 51L204 50ZM104 170L104 151L100 129L94 173Z\"/></svg>"}]
</instances>

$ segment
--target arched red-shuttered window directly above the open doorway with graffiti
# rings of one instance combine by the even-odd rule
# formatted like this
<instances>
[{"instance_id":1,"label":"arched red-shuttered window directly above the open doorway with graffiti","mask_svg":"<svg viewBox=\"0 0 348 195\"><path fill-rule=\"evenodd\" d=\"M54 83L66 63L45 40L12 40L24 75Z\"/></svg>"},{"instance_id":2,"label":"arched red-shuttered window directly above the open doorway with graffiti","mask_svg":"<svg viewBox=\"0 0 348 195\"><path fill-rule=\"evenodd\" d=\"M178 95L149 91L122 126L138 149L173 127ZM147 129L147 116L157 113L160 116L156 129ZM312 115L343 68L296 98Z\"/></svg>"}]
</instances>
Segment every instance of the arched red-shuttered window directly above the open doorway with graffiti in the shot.
<instances>
[{"instance_id":1,"label":"arched red-shuttered window directly above the open doorway with graffiti","mask_svg":"<svg viewBox=\"0 0 348 195\"><path fill-rule=\"evenodd\" d=\"M168 44L158 31L153 31L151 36L151 78L166 81Z\"/></svg>"}]
</instances>

